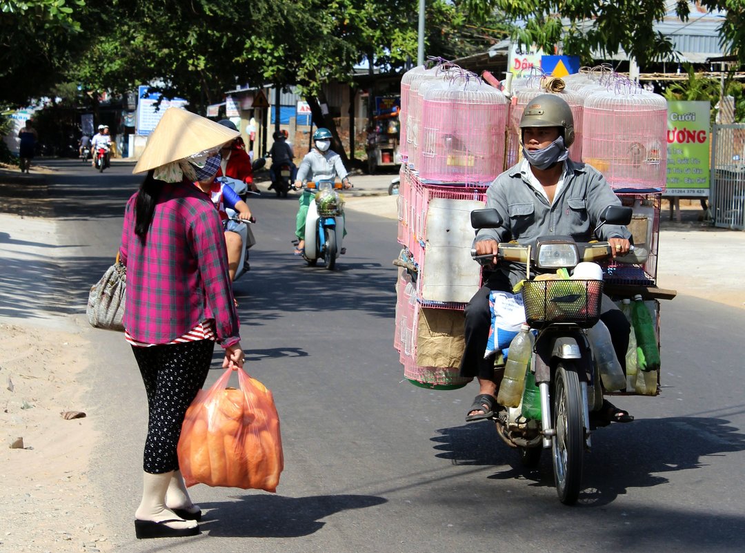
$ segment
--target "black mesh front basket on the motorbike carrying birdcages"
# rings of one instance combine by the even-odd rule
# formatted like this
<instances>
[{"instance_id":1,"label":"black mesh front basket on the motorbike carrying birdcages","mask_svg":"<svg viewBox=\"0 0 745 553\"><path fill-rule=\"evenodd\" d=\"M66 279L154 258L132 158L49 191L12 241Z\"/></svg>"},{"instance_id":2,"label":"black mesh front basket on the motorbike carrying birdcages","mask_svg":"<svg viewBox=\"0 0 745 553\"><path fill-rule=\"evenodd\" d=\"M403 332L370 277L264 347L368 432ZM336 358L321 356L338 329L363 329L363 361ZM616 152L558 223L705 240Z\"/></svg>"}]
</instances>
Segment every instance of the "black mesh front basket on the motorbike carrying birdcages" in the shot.
<instances>
[{"instance_id":1,"label":"black mesh front basket on the motorbike carrying birdcages","mask_svg":"<svg viewBox=\"0 0 745 553\"><path fill-rule=\"evenodd\" d=\"M589 329L600 319L602 300L602 280L530 280L522 288L525 321L534 329L551 323Z\"/></svg>"}]
</instances>

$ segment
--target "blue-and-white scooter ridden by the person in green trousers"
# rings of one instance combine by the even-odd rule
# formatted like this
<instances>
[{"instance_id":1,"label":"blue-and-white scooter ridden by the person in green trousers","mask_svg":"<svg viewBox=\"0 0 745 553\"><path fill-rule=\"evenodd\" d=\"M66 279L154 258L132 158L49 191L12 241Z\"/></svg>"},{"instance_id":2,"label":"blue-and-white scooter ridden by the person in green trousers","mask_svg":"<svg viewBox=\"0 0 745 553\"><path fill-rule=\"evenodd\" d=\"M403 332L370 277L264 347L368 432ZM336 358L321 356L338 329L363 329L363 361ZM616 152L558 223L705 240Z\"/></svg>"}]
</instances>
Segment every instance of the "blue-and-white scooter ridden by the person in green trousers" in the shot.
<instances>
[{"instance_id":1,"label":"blue-and-white scooter ridden by the person in green trousers","mask_svg":"<svg viewBox=\"0 0 745 553\"><path fill-rule=\"evenodd\" d=\"M341 183L319 180L305 184L305 192L314 192L314 200L305 215L305 253L308 265L323 259L326 268L333 271L339 257L344 236L344 200L337 192Z\"/></svg>"}]
</instances>

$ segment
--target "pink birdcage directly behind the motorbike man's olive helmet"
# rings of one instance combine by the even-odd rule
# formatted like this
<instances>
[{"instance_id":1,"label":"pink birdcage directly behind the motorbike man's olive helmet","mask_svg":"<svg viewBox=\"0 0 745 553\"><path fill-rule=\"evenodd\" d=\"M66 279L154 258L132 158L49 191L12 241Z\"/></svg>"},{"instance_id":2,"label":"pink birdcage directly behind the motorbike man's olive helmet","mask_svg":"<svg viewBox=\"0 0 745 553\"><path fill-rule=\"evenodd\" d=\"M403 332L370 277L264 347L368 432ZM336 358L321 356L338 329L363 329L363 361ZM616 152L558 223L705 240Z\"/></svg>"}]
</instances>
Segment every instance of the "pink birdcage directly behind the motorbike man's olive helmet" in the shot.
<instances>
[{"instance_id":1,"label":"pink birdcage directly behind the motorbike man's olive helmet","mask_svg":"<svg viewBox=\"0 0 745 553\"><path fill-rule=\"evenodd\" d=\"M520 152L522 148L522 133L520 132L520 119L522 113L525 110L525 106L536 98L536 96L546 94L547 92L541 88L529 88L520 89L513 95L513 101L510 104L510 116L509 124L507 126L507 154L506 154L506 165L505 168L510 168L515 165L519 159L522 158ZM572 118L574 118L574 142L569 147L569 157L576 162L582 161L582 144L583 144L583 95L574 90L564 90L562 92L552 92L563 98L569 109L571 110Z\"/></svg>"}]
</instances>

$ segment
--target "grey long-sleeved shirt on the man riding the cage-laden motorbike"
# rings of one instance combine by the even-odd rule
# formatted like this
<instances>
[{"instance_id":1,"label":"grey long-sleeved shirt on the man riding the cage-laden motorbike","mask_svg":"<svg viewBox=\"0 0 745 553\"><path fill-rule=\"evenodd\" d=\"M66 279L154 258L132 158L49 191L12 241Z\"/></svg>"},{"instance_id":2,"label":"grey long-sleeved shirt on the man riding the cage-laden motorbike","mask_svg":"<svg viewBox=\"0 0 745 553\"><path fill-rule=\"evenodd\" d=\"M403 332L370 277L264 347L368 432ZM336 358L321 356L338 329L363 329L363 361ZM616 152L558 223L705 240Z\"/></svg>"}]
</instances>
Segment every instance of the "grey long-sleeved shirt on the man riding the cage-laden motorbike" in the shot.
<instances>
[{"instance_id":1,"label":"grey long-sleeved shirt on the man riding the cage-laden motorbike","mask_svg":"<svg viewBox=\"0 0 745 553\"><path fill-rule=\"evenodd\" d=\"M553 205L524 180L521 163L499 175L486 190L486 207L493 207L504 221L501 228L481 229L474 243L482 240L535 244L540 236L571 236L578 242L592 239L600 212L621 205L602 174L591 165L566 160L567 173ZM606 224L600 240L631 238L626 227ZM513 285L525 276L524 265L502 262L502 272Z\"/></svg>"}]
</instances>

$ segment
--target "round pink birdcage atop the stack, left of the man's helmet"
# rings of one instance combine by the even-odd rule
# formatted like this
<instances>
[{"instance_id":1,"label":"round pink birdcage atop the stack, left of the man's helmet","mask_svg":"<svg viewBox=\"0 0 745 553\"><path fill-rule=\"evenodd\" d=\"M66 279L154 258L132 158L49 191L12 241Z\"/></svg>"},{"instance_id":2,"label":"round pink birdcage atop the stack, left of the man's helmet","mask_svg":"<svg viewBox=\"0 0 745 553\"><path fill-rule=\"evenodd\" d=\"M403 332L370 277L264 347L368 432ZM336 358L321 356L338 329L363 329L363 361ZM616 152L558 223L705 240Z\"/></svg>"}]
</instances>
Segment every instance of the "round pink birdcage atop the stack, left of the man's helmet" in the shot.
<instances>
[{"instance_id":1,"label":"round pink birdcage atop the stack, left of the man's helmet","mask_svg":"<svg viewBox=\"0 0 745 553\"><path fill-rule=\"evenodd\" d=\"M419 90L419 177L442 183L494 180L504 164L504 94L467 72L445 86Z\"/></svg>"}]
</instances>

